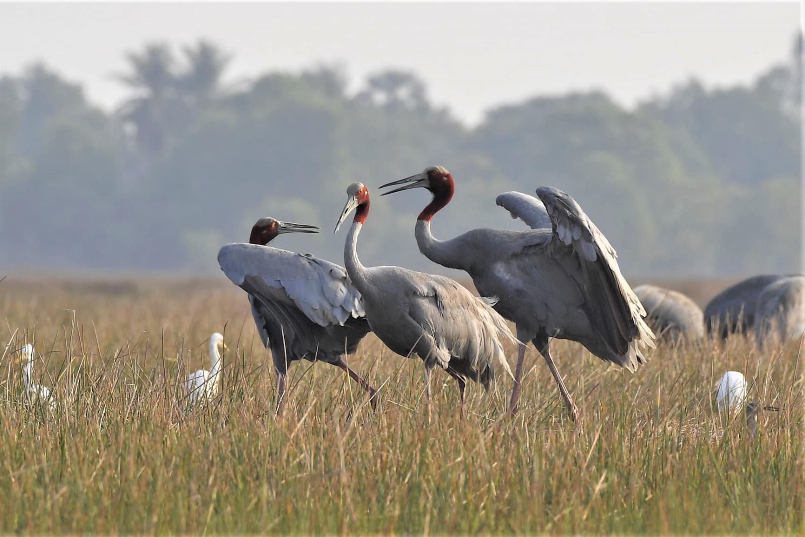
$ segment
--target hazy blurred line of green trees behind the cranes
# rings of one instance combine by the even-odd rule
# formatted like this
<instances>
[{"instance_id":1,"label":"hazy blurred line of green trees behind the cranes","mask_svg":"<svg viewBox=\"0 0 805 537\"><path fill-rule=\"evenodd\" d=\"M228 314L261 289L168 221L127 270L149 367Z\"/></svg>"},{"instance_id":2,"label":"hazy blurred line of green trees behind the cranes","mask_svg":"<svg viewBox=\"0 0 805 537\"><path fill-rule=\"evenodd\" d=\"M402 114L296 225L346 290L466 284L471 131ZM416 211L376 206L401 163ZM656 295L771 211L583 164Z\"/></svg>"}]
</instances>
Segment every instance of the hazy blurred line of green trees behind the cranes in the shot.
<instances>
[{"instance_id":1,"label":"hazy blurred line of green trees behind the cranes","mask_svg":"<svg viewBox=\"0 0 805 537\"><path fill-rule=\"evenodd\" d=\"M341 260L332 229L349 182L376 187L442 164L457 194L437 236L506 226L494 197L567 191L627 274L792 272L800 261L801 40L749 86L696 80L624 109L602 92L539 96L470 129L390 70L353 93L341 68L223 83L230 56L200 41L126 55L114 113L35 65L0 78L0 264L207 270L262 215L324 232L279 246ZM435 270L412 229L427 195L379 198L361 254ZM371 229L371 231L369 231Z\"/></svg>"}]
</instances>

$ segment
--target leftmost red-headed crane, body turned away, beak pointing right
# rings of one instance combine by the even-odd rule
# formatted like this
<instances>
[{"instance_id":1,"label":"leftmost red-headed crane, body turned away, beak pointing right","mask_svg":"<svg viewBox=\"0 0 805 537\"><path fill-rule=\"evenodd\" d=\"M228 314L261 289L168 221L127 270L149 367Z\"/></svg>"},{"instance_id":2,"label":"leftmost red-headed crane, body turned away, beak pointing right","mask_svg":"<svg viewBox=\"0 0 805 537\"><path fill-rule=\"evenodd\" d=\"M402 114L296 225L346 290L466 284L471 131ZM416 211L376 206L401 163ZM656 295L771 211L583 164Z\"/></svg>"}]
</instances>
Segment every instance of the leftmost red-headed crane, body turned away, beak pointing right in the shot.
<instances>
[{"instance_id":1,"label":"leftmost red-headed crane, body turned away, beak pointing right","mask_svg":"<svg viewBox=\"0 0 805 537\"><path fill-rule=\"evenodd\" d=\"M218 252L218 264L233 284L249 293L254 323L277 371L278 411L288 365L300 359L340 367L369 392L376 408L377 391L343 359L369 333L361 293L337 264L266 246L283 233L317 232L316 226L261 218L249 244L226 244Z\"/></svg>"}]
</instances>

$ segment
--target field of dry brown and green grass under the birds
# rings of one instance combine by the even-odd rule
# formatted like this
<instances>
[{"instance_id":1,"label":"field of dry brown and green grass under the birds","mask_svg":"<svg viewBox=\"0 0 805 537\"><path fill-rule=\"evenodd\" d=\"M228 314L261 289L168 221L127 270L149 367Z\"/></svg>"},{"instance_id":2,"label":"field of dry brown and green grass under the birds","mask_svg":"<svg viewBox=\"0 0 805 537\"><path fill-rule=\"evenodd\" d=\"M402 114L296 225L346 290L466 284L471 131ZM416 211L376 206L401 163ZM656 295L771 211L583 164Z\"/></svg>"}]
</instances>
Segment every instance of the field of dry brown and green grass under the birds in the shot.
<instances>
[{"instance_id":1,"label":"field of dry brown and green grass under the birds","mask_svg":"<svg viewBox=\"0 0 805 537\"><path fill-rule=\"evenodd\" d=\"M2 533L805 532L798 342L663 347L630 375L557 341L579 424L533 348L516 417L499 378L470 387L461 421L437 371L427 424L421 363L372 336L350 363L381 387L378 412L340 370L297 363L276 417L270 357L231 285L6 280L0 312ZM208 368L213 331L230 347L222 393L188 413L177 379ZM10 365L26 340L52 415ZM782 408L755 438L714 408L728 369Z\"/></svg>"}]
</instances>

